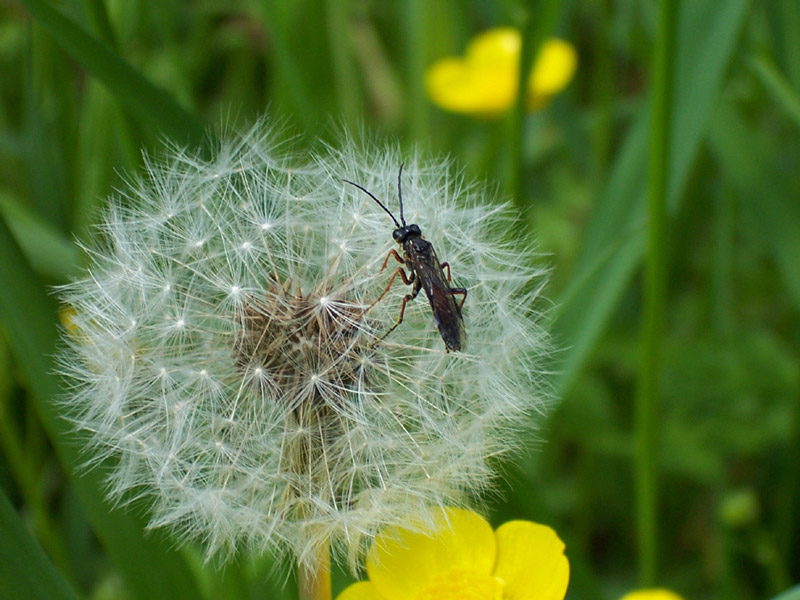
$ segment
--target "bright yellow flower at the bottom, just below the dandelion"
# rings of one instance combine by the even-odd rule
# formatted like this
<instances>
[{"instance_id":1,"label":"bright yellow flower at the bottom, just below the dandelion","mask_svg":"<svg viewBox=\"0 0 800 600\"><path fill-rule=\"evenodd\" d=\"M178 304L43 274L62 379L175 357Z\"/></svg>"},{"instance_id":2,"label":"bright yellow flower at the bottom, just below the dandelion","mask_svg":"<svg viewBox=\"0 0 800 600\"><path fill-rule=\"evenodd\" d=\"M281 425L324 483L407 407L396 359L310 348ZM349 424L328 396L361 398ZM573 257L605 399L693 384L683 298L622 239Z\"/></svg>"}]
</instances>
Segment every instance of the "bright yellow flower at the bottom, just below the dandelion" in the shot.
<instances>
[{"instance_id":1,"label":"bright yellow flower at the bottom, just below the dandelion","mask_svg":"<svg viewBox=\"0 0 800 600\"><path fill-rule=\"evenodd\" d=\"M367 575L337 600L562 600L569 562L545 525L509 521L492 531L477 514L449 508L433 535L382 531L367 554Z\"/></svg>"}]
</instances>

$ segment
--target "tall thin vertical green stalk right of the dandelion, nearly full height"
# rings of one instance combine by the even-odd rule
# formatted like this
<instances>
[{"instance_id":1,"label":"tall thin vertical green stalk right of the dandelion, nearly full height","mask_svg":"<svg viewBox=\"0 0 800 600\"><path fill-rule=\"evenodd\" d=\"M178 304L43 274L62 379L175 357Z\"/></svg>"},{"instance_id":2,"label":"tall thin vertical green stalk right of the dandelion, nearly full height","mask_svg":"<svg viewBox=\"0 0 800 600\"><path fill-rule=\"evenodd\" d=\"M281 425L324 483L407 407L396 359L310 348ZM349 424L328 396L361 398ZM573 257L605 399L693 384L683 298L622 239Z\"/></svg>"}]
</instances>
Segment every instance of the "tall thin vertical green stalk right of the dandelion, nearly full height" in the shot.
<instances>
[{"instance_id":1,"label":"tall thin vertical green stalk right of the dandelion, nearly full height","mask_svg":"<svg viewBox=\"0 0 800 600\"><path fill-rule=\"evenodd\" d=\"M666 306L667 186L670 175L678 0L661 0L653 68L649 151L648 231L640 363L636 386L635 489L639 580L656 581L659 378Z\"/></svg>"}]
</instances>

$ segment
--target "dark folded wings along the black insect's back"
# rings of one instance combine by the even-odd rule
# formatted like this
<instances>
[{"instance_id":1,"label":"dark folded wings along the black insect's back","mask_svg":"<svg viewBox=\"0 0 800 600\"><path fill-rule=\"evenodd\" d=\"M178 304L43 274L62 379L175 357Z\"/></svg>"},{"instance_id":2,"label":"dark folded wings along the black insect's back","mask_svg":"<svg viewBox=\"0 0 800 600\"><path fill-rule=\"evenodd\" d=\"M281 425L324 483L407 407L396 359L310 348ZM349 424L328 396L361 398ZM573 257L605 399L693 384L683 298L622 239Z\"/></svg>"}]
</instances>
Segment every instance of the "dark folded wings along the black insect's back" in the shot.
<instances>
[{"instance_id":1,"label":"dark folded wings along the black insect's back","mask_svg":"<svg viewBox=\"0 0 800 600\"><path fill-rule=\"evenodd\" d=\"M445 346L448 350L463 350L467 345L464 319L433 246L429 246L424 253L411 253L409 258L428 297L433 320Z\"/></svg>"}]
</instances>

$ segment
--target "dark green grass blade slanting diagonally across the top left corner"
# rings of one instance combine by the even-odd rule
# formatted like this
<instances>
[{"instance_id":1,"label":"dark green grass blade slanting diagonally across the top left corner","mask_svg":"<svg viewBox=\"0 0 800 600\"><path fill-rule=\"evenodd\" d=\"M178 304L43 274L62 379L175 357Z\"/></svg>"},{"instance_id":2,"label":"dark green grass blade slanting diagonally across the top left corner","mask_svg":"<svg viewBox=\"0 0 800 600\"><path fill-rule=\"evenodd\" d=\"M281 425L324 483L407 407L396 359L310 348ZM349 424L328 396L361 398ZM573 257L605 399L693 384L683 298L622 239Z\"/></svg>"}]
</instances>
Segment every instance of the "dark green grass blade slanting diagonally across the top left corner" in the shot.
<instances>
[{"instance_id":1,"label":"dark green grass blade slanting diagonally across the top left corner","mask_svg":"<svg viewBox=\"0 0 800 600\"><path fill-rule=\"evenodd\" d=\"M130 64L91 37L43 0L23 0L36 19L87 71L111 91L119 103L143 122L183 143L207 142L202 124L164 90L147 81Z\"/></svg>"}]
</instances>

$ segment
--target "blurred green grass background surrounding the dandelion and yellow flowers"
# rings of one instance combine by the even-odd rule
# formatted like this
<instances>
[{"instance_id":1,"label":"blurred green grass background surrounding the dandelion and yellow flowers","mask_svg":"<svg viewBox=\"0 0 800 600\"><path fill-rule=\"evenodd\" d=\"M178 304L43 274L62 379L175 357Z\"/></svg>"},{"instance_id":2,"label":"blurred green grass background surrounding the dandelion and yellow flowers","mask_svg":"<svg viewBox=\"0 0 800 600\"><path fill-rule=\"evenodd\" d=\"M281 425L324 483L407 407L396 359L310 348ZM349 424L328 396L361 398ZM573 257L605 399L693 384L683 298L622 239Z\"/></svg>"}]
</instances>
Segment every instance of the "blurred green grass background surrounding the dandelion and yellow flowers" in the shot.
<instances>
[{"instance_id":1,"label":"blurred green grass background surrounding the dandelion and yellow flowers","mask_svg":"<svg viewBox=\"0 0 800 600\"><path fill-rule=\"evenodd\" d=\"M571 85L493 120L433 106L426 67L500 25L529 52L570 41ZM560 402L490 516L559 532L568 598L744 600L800 580L796 0L11 0L0 598L295 597L266 560L204 566L144 534L144 507L112 510L102 471L76 473L51 358L52 286L141 149L265 113L305 140L344 124L451 155L524 214L553 265Z\"/></svg>"}]
</instances>

